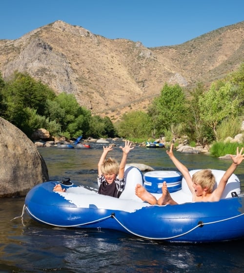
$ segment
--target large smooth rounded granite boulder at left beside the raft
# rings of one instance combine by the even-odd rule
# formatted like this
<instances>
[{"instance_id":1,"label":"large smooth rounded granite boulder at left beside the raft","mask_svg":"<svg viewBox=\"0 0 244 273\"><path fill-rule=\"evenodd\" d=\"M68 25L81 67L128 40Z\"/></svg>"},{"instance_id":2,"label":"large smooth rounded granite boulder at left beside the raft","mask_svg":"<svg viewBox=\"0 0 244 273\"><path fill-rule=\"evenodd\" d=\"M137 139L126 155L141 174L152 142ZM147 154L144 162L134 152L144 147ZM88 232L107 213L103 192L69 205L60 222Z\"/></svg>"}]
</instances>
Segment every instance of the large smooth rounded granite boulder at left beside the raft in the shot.
<instances>
[{"instance_id":1,"label":"large smooth rounded granite boulder at left beside the raft","mask_svg":"<svg viewBox=\"0 0 244 273\"><path fill-rule=\"evenodd\" d=\"M24 196L49 180L47 167L34 143L0 117L0 197Z\"/></svg>"}]
</instances>

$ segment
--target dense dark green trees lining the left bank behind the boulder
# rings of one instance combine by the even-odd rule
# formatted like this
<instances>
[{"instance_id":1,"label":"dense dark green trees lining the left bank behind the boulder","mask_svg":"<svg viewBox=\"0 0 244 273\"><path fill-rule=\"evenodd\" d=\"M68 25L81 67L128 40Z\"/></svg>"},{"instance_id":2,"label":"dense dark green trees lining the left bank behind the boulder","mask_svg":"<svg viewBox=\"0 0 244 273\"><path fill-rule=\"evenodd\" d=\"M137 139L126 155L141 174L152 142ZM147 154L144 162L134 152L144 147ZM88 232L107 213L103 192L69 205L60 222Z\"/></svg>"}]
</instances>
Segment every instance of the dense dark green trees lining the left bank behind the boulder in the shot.
<instances>
[{"instance_id":1,"label":"dense dark green trees lining the left bank behind the boulder","mask_svg":"<svg viewBox=\"0 0 244 273\"><path fill-rule=\"evenodd\" d=\"M0 114L28 137L38 128L51 135L84 138L117 136L109 119L92 118L90 110L81 107L73 94L55 93L27 73L15 72L8 82L0 75ZM90 125L92 130L90 130ZM94 137L95 137L94 136Z\"/></svg>"}]
</instances>

